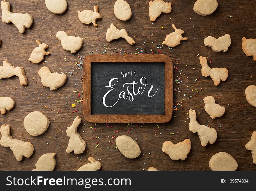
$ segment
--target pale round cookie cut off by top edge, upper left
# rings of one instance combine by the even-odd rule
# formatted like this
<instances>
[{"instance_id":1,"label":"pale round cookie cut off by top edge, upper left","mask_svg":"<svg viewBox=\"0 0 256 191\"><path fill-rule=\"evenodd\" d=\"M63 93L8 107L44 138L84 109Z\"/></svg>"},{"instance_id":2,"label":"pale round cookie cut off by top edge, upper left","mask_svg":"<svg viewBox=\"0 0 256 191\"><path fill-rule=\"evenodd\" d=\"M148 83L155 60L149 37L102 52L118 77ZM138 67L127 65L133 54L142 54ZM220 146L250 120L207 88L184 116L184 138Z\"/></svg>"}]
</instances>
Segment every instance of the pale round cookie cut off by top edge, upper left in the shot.
<instances>
[{"instance_id":1,"label":"pale round cookie cut off by top edge, upper left","mask_svg":"<svg viewBox=\"0 0 256 191\"><path fill-rule=\"evenodd\" d=\"M46 8L54 14L62 14L67 9L67 0L45 0Z\"/></svg>"}]
</instances>

